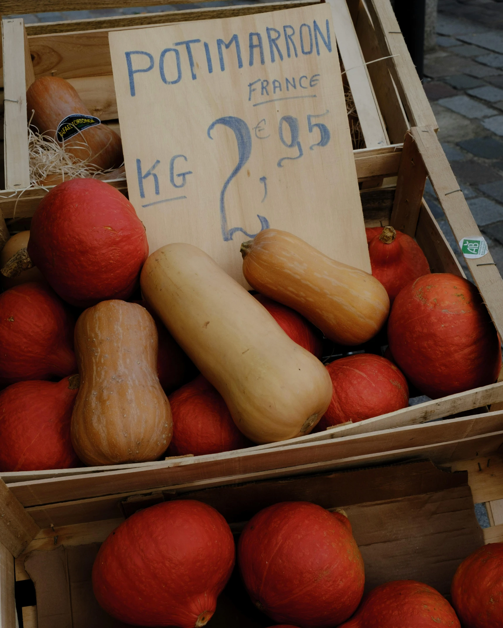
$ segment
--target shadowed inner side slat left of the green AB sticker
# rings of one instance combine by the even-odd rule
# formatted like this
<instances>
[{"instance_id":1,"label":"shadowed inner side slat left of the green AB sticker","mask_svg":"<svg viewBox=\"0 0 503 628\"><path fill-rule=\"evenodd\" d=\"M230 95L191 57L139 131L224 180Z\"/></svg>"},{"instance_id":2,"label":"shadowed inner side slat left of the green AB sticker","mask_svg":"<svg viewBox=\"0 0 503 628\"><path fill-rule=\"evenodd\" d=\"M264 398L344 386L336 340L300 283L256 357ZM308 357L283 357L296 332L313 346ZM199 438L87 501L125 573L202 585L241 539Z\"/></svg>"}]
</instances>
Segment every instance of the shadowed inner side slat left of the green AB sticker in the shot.
<instances>
[{"instance_id":1,"label":"shadowed inner side slat left of the green AB sticker","mask_svg":"<svg viewBox=\"0 0 503 628\"><path fill-rule=\"evenodd\" d=\"M458 258L453 253L449 242L434 219L424 198L417 220L416 242L423 249L432 273L452 273L459 277L465 276ZM503 409L493 408L493 409Z\"/></svg>"}]
</instances>

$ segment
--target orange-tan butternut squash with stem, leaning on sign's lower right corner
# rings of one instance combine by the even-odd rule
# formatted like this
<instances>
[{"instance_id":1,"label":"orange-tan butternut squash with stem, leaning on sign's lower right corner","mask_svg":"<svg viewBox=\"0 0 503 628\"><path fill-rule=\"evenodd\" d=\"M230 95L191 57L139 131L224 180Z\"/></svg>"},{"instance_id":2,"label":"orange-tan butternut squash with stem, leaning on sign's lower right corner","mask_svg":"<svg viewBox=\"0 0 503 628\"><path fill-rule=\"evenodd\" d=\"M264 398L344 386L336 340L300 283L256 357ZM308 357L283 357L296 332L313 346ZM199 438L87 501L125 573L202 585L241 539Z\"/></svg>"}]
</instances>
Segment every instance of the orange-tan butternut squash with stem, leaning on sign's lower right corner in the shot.
<instances>
[{"instance_id":1,"label":"orange-tan butternut squash with stem, leaning on sign's lower right corner","mask_svg":"<svg viewBox=\"0 0 503 628\"><path fill-rule=\"evenodd\" d=\"M389 298L377 279L286 231L260 231L243 242L241 254L252 288L301 313L334 342L367 342L388 317Z\"/></svg>"}]
</instances>

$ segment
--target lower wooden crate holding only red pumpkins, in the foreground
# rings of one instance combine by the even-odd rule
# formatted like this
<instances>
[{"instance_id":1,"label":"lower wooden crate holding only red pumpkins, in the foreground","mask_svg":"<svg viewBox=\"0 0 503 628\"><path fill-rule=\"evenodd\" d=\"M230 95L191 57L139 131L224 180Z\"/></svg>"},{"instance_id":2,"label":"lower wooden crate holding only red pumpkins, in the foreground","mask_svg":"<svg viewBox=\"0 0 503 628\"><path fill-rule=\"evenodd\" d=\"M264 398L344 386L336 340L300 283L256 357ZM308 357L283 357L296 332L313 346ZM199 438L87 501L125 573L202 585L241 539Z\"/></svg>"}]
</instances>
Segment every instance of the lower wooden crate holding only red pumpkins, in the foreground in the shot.
<instances>
[{"instance_id":1,"label":"lower wooden crate holding only red pumpkins, in the foreground","mask_svg":"<svg viewBox=\"0 0 503 628\"><path fill-rule=\"evenodd\" d=\"M343 508L362 551L367 591L388 580L415 579L448 595L459 563L482 544L503 539L503 459L496 451L502 441L502 436L465 439L458 441L458 455L440 445L413 463L390 465L391 459L382 454L362 458L357 468L325 465L311 475L296 468L286 477L268 473L227 485L210 480L141 492L133 490L130 477L102 487L99 495L72 495L69 501L75 478L67 478L44 495L45 503L35 506L41 496L36 486L30 492L26 486L1 482L0 628L16 626L14 584L21 605L19 594L31 586L30 579L36 605L25 597L19 609L25 628L116 625L92 596L91 568L99 544L138 509L174 499L197 499L215 507L236 537L253 514L279 501ZM88 489L91 484L88 480ZM492 526L484 530L473 507L480 502L492 517ZM233 575L209 627L269 624L253 610Z\"/></svg>"}]
</instances>

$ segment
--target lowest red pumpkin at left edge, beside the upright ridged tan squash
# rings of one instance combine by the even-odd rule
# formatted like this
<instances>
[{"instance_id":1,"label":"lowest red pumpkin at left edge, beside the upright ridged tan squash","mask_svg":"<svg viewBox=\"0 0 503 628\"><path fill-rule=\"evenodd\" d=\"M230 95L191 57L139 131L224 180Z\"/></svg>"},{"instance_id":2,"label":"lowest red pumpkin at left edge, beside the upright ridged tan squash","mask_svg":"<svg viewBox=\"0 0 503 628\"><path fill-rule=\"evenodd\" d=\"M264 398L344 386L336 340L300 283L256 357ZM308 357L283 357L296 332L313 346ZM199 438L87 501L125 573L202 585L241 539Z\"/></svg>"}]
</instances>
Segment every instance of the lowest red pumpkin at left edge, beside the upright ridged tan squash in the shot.
<instances>
[{"instance_id":1,"label":"lowest red pumpkin at left edge, beside the upright ridged tan squash","mask_svg":"<svg viewBox=\"0 0 503 628\"><path fill-rule=\"evenodd\" d=\"M70 439L79 376L60 382L28 381L0 393L0 470L80 467Z\"/></svg>"}]
</instances>

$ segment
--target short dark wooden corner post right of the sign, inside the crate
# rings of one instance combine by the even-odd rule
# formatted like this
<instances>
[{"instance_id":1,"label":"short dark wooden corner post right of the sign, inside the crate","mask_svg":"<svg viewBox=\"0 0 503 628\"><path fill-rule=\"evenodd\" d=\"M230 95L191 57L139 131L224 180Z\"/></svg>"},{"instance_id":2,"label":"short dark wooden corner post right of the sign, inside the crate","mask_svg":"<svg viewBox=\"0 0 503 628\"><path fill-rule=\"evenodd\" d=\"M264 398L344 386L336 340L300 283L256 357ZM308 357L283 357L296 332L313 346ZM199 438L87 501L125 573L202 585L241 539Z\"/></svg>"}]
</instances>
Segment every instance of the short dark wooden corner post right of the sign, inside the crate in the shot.
<instances>
[{"instance_id":1,"label":"short dark wooden corner post right of the sign, inside the crate","mask_svg":"<svg viewBox=\"0 0 503 628\"><path fill-rule=\"evenodd\" d=\"M397 189L391 212L391 225L414 237L417 219L423 201L426 184L426 168L419 154L416 142L406 133L404 148L398 170Z\"/></svg>"}]
</instances>

